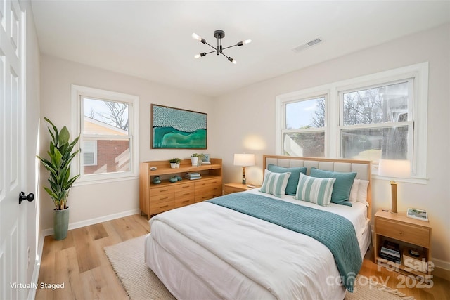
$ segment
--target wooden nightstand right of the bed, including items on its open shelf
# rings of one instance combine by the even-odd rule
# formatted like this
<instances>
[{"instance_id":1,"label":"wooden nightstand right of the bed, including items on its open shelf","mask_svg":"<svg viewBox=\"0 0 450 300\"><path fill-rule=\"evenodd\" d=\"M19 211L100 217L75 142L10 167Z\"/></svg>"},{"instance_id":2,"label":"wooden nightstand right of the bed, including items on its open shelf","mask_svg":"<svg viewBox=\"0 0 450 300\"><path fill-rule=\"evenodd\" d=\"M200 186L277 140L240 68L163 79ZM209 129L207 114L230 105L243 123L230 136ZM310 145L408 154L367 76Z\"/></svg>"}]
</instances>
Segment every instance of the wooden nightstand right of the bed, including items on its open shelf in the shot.
<instances>
[{"instance_id":1,"label":"wooden nightstand right of the bed, including items on its open shelf","mask_svg":"<svg viewBox=\"0 0 450 300\"><path fill-rule=\"evenodd\" d=\"M431 226L405 213L375 214L375 263L428 282L431 278Z\"/></svg>"}]
</instances>

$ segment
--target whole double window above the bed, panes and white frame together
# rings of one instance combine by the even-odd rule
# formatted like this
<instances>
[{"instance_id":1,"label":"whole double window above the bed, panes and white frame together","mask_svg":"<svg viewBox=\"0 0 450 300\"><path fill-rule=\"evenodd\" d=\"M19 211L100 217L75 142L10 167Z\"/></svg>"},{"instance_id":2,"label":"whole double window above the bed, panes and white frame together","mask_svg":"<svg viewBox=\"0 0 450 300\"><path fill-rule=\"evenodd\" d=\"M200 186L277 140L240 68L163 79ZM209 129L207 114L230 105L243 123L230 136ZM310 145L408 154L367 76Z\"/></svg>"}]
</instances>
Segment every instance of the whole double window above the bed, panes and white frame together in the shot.
<instances>
[{"instance_id":1,"label":"whole double window above the bed, panes and white frame together","mask_svg":"<svg viewBox=\"0 0 450 300\"><path fill-rule=\"evenodd\" d=\"M276 96L277 154L409 159L425 183L428 63Z\"/></svg>"}]
</instances>

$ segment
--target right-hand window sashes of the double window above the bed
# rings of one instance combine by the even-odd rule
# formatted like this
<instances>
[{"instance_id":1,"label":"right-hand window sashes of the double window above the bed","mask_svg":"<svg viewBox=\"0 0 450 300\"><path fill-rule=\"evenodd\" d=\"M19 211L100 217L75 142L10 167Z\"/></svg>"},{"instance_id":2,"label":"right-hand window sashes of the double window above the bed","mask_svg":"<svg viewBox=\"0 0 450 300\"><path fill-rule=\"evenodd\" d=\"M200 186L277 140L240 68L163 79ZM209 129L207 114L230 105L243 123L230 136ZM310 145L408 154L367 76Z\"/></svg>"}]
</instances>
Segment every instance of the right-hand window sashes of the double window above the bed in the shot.
<instances>
[{"instance_id":1,"label":"right-hand window sashes of the double window above the bed","mask_svg":"<svg viewBox=\"0 0 450 300\"><path fill-rule=\"evenodd\" d=\"M413 79L340 92L340 157L409 159Z\"/></svg>"}]
</instances>

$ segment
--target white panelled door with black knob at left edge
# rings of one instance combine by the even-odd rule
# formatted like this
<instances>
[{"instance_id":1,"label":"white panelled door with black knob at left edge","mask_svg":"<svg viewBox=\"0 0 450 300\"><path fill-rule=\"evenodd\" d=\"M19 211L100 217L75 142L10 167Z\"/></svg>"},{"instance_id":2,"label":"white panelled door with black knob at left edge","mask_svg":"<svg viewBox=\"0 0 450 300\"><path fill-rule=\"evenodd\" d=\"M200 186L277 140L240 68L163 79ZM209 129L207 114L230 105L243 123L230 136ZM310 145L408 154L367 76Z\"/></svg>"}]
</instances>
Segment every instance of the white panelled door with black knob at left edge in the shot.
<instances>
[{"instance_id":1,"label":"white panelled door with black knob at left edge","mask_svg":"<svg viewBox=\"0 0 450 300\"><path fill-rule=\"evenodd\" d=\"M24 20L16 0L0 0L0 299L25 299Z\"/></svg>"}]
</instances>

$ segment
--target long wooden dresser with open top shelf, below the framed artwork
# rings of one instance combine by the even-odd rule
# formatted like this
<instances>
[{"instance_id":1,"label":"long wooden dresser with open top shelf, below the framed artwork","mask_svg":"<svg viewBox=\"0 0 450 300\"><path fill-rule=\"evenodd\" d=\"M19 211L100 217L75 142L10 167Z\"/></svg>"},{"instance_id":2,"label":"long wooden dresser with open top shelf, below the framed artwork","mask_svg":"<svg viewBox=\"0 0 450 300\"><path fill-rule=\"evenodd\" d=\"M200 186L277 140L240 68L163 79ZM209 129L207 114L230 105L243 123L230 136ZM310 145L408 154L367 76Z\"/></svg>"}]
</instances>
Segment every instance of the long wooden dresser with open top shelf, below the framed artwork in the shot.
<instances>
[{"instance_id":1,"label":"long wooden dresser with open top shelf, below the framed artwork","mask_svg":"<svg viewBox=\"0 0 450 300\"><path fill-rule=\"evenodd\" d=\"M184 207L222 195L222 159L212 158L211 164L199 167L191 165L191 159L183 159L180 167L172 169L167 160L141 162L139 169L139 208L150 219L176 207ZM156 167L156 170L150 170ZM198 172L202 178L184 178L188 172ZM171 183L170 176L181 176L181 181ZM161 183L153 183L160 176Z\"/></svg>"}]
</instances>

